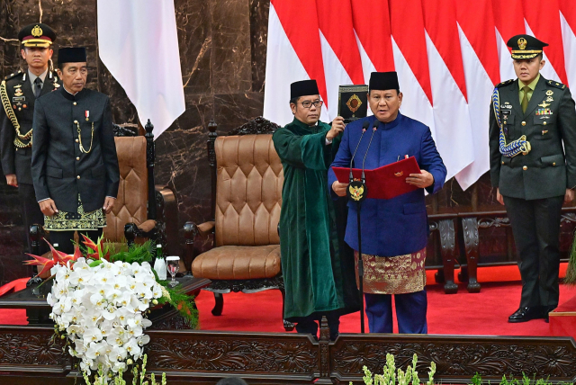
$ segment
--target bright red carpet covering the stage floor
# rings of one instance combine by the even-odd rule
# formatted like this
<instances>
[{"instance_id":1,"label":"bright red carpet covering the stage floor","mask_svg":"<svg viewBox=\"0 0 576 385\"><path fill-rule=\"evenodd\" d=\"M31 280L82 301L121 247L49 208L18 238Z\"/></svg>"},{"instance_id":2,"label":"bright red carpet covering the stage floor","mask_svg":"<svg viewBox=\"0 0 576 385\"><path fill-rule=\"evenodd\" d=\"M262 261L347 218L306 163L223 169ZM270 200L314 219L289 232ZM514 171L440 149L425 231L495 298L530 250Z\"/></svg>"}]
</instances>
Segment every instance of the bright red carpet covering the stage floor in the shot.
<instances>
[{"instance_id":1,"label":"bright red carpet covering the stage floor","mask_svg":"<svg viewBox=\"0 0 576 385\"><path fill-rule=\"evenodd\" d=\"M566 264L561 265L561 277ZM428 332L430 334L488 336L552 336L549 324L536 319L521 324L509 324L508 317L520 300L518 266L484 267L478 270L482 291L471 294L464 283L457 294L446 295L428 272ZM576 287L560 286L560 303L576 295ZM202 330L284 332L282 296L280 291L254 294L224 295L224 310L220 317L211 315L214 304L211 292L202 291L196 300ZM24 310L0 309L0 324L25 325ZM366 330L368 322L366 320ZM395 328L396 329L396 328ZM360 332L358 313L341 318L340 332Z\"/></svg>"}]
</instances>

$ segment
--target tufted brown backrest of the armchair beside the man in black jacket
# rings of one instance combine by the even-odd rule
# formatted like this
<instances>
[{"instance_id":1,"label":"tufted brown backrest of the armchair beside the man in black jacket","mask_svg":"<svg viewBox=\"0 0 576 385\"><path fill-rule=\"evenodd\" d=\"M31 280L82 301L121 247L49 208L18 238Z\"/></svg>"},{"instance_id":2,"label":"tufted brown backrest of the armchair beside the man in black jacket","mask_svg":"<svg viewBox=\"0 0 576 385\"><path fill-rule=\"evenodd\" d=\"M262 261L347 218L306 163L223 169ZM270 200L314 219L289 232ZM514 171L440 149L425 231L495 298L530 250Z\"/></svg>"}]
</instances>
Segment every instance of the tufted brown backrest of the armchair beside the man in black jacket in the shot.
<instances>
[{"instance_id":1,"label":"tufted brown backrest of the armchair beside the man in black jacket","mask_svg":"<svg viewBox=\"0 0 576 385\"><path fill-rule=\"evenodd\" d=\"M120 166L118 197L112 211L106 215L104 237L112 242L124 240L124 225L140 225L148 219L148 169L146 168L146 138L116 137L116 153Z\"/></svg>"}]
</instances>

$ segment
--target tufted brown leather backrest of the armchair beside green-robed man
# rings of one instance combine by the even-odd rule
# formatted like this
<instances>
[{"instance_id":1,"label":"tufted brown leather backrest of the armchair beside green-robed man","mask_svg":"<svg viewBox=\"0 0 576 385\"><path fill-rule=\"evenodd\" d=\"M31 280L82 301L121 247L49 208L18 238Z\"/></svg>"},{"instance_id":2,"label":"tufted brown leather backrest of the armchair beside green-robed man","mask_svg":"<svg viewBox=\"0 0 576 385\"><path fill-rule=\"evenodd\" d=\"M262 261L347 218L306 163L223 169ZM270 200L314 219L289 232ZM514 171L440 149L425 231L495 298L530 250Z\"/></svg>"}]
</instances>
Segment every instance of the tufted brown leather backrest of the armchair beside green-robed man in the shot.
<instances>
[{"instance_id":1,"label":"tufted brown leather backrest of the armchair beside green-robed man","mask_svg":"<svg viewBox=\"0 0 576 385\"><path fill-rule=\"evenodd\" d=\"M278 245L284 171L272 135L219 137L216 246Z\"/></svg>"}]
</instances>

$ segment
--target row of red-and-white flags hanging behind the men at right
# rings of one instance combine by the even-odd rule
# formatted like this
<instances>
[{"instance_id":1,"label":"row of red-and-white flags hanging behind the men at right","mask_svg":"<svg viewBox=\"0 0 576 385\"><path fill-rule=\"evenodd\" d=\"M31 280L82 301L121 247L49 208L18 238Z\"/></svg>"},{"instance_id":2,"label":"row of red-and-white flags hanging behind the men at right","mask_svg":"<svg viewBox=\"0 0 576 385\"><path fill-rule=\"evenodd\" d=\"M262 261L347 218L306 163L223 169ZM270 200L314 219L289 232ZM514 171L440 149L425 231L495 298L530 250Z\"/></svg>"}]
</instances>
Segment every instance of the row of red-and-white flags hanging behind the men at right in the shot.
<instances>
[{"instance_id":1,"label":"row of red-and-white flags hanging behind the men at right","mask_svg":"<svg viewBox=\"0 0 576 385\"><path fill-rule=\"evenodd\" d=\"M338 113L338 85L398 72L401 112L428 125L448 170L465 190L490 168L494 85L516 78L506 42L531 34L550 44L542 74L576 83L573 0L272 0L264 116L293 120L290 84L316 79L320 119ZM393 146L393 144L392 144Z\"/></svg>"}]
</instances>

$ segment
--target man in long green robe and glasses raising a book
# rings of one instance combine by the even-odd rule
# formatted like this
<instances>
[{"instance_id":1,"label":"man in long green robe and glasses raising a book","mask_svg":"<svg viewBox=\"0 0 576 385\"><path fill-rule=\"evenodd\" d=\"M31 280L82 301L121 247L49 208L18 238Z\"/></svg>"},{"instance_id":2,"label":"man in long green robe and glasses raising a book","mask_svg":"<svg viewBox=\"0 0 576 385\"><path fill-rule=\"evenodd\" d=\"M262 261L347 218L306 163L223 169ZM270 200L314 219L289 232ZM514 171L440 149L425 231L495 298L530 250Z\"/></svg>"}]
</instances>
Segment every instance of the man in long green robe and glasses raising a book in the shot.
<instances>
[{"instance_id":1,"label":"man in long green robe and glasses raising a book","mask_svg":"<svg viewBox=\"0 0 576 385\"><path fill-rule=\"evenodd\" d=\"M318 338L316 321L326 316L330 338L336 339L339 316L359 309L354 260L347 261L347 254L340 253L328 193L328 169L345 125L341 117L331 127L320 121L322 101L315 80L291 85L290 107L293 122L273 136L284 166L280 214L284 318L296 323L299 333Z\"/></svg>"}]
</instances>

